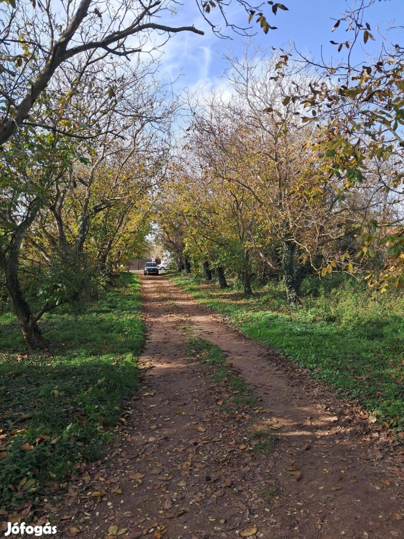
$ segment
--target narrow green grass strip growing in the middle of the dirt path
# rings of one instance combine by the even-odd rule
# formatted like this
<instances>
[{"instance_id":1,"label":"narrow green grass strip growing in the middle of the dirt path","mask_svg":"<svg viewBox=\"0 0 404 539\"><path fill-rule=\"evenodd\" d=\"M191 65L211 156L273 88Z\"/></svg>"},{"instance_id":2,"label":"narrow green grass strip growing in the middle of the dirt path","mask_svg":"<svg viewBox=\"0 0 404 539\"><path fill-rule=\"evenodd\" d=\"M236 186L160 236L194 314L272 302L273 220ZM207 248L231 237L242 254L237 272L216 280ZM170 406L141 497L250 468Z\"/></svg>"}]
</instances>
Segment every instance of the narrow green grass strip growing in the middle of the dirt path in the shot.
<instances>
[{"instance_id":1,"label":"narrow green grass strip growing in the middle of the dirt path","mask_svg":"<svg viewBox=\"0 0 404 539\"><path fill-rule=\"evenodd\" d=\"M256 405L255 398L252 395L248 384L246 384L240 377L234 375L231 367L229 367L226 361L225 354L219 347L202 338L191 338L189 341L189 350L192 360L206 363L214 368L213 382L225 382L230 388L238 393L236 396L232 397L231 400L236 409L244 406L253 407Z\"/></svg>"}]
</instances>

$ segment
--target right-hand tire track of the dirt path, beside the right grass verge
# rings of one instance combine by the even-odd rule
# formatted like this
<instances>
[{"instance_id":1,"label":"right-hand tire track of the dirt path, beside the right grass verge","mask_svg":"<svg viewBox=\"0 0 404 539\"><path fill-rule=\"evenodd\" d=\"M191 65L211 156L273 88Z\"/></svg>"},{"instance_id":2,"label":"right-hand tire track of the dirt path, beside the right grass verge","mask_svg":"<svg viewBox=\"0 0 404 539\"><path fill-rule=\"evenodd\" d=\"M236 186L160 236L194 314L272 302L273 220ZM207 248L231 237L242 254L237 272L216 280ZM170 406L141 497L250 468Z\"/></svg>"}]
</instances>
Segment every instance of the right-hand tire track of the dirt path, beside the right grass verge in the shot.
<instances>
[{"instance_id":1,"label":"right-hand tire track of the dirt path, beside the right grass verge","mask_svg":"<svg viewBox=\"0 0 404 539\"><path fill-rule=\"evenodd\" d=\"M254 388L274 425L282 425L277 432L288 449L278 459L275 474L318 522L317 529L330 537L404 537L403 469L377 461L378 431L373 429L366 440L364 425L353 421L342 402L326 394L328 401L316 402L298 380L285 374L272 350L229 328L172 283L165 286L190 323L227 354ZM294 466L301 472L298 485L285 481Z\"/></svg>"}]
</instances>

